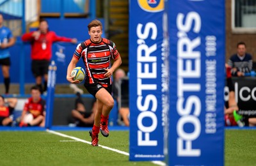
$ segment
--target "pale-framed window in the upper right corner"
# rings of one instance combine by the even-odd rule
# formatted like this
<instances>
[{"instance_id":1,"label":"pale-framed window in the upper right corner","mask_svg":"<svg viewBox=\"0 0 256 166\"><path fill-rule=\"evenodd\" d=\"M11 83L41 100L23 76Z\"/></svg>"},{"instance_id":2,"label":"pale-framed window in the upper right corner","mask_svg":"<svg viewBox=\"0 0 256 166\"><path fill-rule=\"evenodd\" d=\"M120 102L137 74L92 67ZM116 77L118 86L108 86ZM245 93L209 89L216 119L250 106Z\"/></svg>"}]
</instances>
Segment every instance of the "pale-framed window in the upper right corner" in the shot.
<instances>
[{"instance_id":1,"label":"pale-framed window in the upper right corner","mask_svg":"<svg viewBox=\"0 0 256 166\"><path fill-rule=\"evenodd\" d=\"M256 0L232 0L232 31L256 33Z\"/></svg>"}]
</instances>

